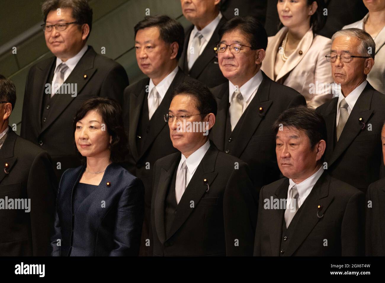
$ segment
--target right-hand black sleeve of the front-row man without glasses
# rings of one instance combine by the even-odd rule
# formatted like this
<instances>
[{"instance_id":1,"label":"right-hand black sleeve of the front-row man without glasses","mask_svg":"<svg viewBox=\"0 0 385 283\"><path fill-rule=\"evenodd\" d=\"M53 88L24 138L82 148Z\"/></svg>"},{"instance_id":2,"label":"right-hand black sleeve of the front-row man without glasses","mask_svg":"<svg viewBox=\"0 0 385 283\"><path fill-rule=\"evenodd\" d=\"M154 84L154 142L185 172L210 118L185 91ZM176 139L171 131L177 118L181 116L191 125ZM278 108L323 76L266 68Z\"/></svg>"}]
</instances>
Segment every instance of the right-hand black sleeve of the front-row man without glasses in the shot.
<instances>
[{"instance_id":1,"label":"right-hand black sleeve of the front-row man without glasses","mask_svg":"<svg viewBox=\"0 0 385 283\"><path fill-rule=\"evenodd\" d=\"M341 225L341 255L363 256L364 242L364 201L365 195L358 191L348 201Z\"/></svg>"}]
</instances>

